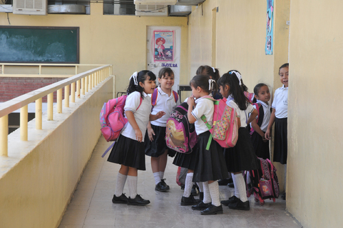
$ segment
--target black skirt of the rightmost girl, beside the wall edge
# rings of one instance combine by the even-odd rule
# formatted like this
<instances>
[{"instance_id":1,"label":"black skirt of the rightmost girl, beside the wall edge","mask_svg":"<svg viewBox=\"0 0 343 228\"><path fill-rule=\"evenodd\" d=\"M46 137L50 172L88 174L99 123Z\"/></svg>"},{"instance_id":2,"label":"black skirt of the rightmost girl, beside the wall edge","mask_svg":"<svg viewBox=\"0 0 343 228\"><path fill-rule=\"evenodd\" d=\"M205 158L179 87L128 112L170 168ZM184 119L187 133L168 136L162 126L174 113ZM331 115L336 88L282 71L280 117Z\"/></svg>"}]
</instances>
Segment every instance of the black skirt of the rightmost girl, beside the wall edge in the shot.
<instances>
[{"instance_id":1,"label":"black skirt of the rightmost girl, beside the wall edge","mask_svg":"<svg viewBox=\"0 0 343 228\"><path fill-rule=\"evenodd\" d=\"M287 118L275 118L273 161L287 163Z\"/></svg>"}]
</instances>

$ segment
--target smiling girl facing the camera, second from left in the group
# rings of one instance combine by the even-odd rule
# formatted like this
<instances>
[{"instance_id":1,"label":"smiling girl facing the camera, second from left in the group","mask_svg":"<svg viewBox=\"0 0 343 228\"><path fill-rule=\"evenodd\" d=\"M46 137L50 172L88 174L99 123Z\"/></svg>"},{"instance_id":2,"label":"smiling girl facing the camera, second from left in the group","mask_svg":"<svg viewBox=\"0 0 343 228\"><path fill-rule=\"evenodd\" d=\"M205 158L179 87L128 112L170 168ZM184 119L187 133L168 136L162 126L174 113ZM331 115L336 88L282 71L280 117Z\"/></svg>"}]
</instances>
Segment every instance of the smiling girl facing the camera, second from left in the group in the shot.
<instances>
[{"instance_id":1,"label":"smiling girl facing the camera, second from left in the group","mask_svg":"<svg viewBox=\"0 0 343 228\"><path fill-rule=\"evenodd\" d=\"M180 104L178 93L173 91L174 72L169 67L163 67L158 72L158 84L156 102L152 114L159 111L165 111L165 115L160 119L152 121L147 125L147 133L145 133L145 155L151 157L152 174L155 179L155 190L159 192L167 192L169 186L165 183L163 176L165 166L167 165L167 155L174 157L174 150L168 150L165 144L165 128L167 119L173 109ZM154 99L154 98L153 98Z\"/></svg>"}]
</instances>

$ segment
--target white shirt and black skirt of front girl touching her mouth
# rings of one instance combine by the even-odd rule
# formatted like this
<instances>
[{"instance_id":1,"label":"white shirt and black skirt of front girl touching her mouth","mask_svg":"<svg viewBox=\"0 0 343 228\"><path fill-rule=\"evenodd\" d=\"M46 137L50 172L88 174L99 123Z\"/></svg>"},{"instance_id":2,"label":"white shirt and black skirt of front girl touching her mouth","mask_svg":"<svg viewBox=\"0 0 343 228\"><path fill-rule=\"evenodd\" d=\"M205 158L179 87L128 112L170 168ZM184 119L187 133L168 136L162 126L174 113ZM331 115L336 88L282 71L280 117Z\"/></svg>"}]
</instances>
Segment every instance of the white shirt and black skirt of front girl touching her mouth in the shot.
<instances>
[{"instance_id":1,"label":"white shirt and black skirt of front girl touching her mouth","mask_svg":"<svg viewBox=\"0 0 343 228\"><path fill-rule=\"evenodd\" d=\"M191 112L191 115L196 118L194 125L198 135L198 144L196 144L194 150L197 158L193 182L216 181L228 178L222 147L212 139L209 150L206 150L211 133L201 117L205 115L207 122L212 125L213 111L214 105L212 100L198 98L196 100L196 108Z\"/></svg>"}]
</instances>

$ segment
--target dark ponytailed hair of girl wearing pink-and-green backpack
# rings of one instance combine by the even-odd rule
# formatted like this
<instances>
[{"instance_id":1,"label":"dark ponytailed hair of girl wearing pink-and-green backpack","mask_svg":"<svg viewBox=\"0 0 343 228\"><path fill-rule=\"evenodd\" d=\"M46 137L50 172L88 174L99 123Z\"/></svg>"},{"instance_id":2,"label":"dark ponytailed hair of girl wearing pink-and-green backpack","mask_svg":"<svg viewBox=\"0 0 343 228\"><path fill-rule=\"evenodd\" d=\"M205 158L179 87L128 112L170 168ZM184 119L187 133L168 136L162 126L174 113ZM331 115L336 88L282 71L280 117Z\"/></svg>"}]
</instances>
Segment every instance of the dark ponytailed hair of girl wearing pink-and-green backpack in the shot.
<instances>
[{"instance_id":1,"label":"dark ponytailed hair of girl wearing pink-and-green backpack","mask_svg":"<svg viewBox=\"0 0 343 228\"><path fill-rule=\"evenodd\" d=\"M224 73L218 80L218 85L224 87L226 84L230 87L229 94L233 96L233 100L237 103L239 109L246 110L248 108L248 98L244 95L243 88L239 86L239 80L235 73L236 71L228 71Z\"/></svg>"}]
</instances>

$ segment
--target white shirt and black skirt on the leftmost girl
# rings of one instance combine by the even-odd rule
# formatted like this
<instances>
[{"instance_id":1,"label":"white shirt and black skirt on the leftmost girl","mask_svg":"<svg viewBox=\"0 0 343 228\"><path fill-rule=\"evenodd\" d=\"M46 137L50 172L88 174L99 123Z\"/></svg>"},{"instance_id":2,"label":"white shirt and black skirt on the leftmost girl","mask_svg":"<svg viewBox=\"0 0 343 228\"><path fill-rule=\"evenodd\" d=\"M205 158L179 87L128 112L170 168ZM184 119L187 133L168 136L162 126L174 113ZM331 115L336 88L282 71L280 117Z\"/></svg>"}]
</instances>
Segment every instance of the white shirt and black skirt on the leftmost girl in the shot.
<instances>
[{"instance_id":1,"label":"white shirt and black skirt on the leftmost girl","mask_svg":"<svg viewBox=\"0 0 343 228\"><path fill-rule=\"evenodd\" d=\"M145 133L152 104L151 98L146 93L143 92L143 96L144 98L139 106L141 93L137 91L130 93L126 98L124 111L134 113L134 119L136 119L139 129L142 133ZM125 113L124 117L126 117ZM123 127L121 135L117 139L115 146L113 146L107 161L137 168L138 170L145 170L144 138L141 142L137 141L134 129L129 122Z\"/></svg>"}]
</instances>

